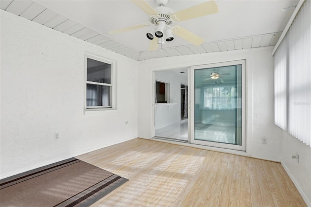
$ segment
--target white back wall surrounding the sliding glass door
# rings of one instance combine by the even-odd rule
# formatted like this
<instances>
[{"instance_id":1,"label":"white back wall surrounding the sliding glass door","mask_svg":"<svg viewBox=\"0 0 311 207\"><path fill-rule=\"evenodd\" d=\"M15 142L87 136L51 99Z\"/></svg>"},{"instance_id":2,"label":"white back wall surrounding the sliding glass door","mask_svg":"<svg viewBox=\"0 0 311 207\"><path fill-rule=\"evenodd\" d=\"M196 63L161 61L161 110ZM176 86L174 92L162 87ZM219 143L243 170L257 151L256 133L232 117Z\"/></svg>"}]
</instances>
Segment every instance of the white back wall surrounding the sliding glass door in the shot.
<instances>
[{"instance_id":1,"label":"white back wall surrounding the sliding glass door","mask_svg":"<svg viewBox=\"0 0 311 207\"><path fill-rule=\"evenodd\" d=\"M138 71L138 137L152 138L153 70L246 59L246 153L240 154L280 161L281 130L274 125L274 63L271 54L272 49L272 47L267 47L140 61ZM268 138L267 144L261 144L262 137ZM238 152L232 153L239 154Z\"/></svg>"}]
</instances>

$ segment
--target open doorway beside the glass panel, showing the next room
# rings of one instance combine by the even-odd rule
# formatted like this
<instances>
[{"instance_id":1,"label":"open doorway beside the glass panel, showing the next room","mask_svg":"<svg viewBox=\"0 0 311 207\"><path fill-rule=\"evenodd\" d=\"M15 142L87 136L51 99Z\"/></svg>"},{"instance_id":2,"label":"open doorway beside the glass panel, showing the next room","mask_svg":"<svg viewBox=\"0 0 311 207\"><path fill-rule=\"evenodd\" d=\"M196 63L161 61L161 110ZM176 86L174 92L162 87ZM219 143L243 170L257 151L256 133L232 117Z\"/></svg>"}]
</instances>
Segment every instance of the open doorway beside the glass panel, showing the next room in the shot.
<instances>
[{"instance_id":1,"label":"open doorway beside the glass panel, showing the next room","mask_svg":"<svg viewBox=\"0 0 311 207\"><path fill-rule=\"evenodd\" d=\"M154 73L155 138L188 142L187 71L188 69L169 69Z\"/></svg>"}]
</instances>

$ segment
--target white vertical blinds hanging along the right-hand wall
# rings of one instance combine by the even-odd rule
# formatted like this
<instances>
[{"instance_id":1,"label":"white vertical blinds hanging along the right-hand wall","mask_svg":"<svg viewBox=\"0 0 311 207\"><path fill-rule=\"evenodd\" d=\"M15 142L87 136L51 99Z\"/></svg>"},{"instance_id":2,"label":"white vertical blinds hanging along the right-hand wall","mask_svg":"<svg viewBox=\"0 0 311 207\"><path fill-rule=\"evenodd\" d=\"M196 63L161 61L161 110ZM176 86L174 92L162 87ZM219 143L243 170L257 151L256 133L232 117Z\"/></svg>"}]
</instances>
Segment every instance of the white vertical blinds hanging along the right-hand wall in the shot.
<instances>
[{"instance_id":1,"label":"white vertical blinds hanging along the right-hand wall","mask_svg":"<svg viewBox=\"0 0 311 207\"><path fill-rule=\"evenodd\" d=\"M275 124L311 147L311 2L275 53Z\"/></svg>"}]
</instances>

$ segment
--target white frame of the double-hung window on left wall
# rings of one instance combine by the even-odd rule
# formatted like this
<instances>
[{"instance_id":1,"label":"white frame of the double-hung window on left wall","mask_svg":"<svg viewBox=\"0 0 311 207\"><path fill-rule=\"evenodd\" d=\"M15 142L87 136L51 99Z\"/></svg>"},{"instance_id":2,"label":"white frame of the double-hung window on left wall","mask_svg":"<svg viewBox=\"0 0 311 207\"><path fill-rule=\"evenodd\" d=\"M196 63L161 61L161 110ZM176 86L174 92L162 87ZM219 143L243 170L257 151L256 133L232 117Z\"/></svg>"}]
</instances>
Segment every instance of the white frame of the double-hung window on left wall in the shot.
<instances>
[{"instance_id":1,"label":"white frame of the double-hung window on left wall","mask_svg":"<svg viewBox=\"0 0 311 207\"><path fill-rule=\"evenodd\" d=\"M105 84L105 83L97 83L92 81L87 81L87 58L100 61L106 64L111 65L111 74L110 74L110 80L111 84ZM113 61L111 59L97 56L94 54L85 54L84 57L84 111L98 111L98 110L115 110L117 109L117 84L116 84L116 61ZM87 84L91 85L97 85L97 86L110 86L110 95L109 95L109 106L87 106L86 104L86 88Z\"/></svg>"}]
</instances>

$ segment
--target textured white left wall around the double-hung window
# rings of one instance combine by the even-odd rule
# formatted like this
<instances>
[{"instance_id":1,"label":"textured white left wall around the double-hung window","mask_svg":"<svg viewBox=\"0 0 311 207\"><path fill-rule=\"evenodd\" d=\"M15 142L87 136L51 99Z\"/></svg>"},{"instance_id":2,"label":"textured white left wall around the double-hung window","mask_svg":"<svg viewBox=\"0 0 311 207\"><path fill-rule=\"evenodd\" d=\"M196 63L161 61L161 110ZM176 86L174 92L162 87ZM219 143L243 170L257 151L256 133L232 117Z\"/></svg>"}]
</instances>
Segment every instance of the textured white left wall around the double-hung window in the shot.
<instances>
[{"instance_id":1,"label":"textured white left wall around the double-hung window","mask_svg":"<svg viewBox=\"0 0 311 207\"><path fill-rule=\"evenodd\" d=\"M1 178L137 138L137 61L0 13ZM86 52L117 61L117 110L84 114Z\"/></svg>"}]
</instances>

